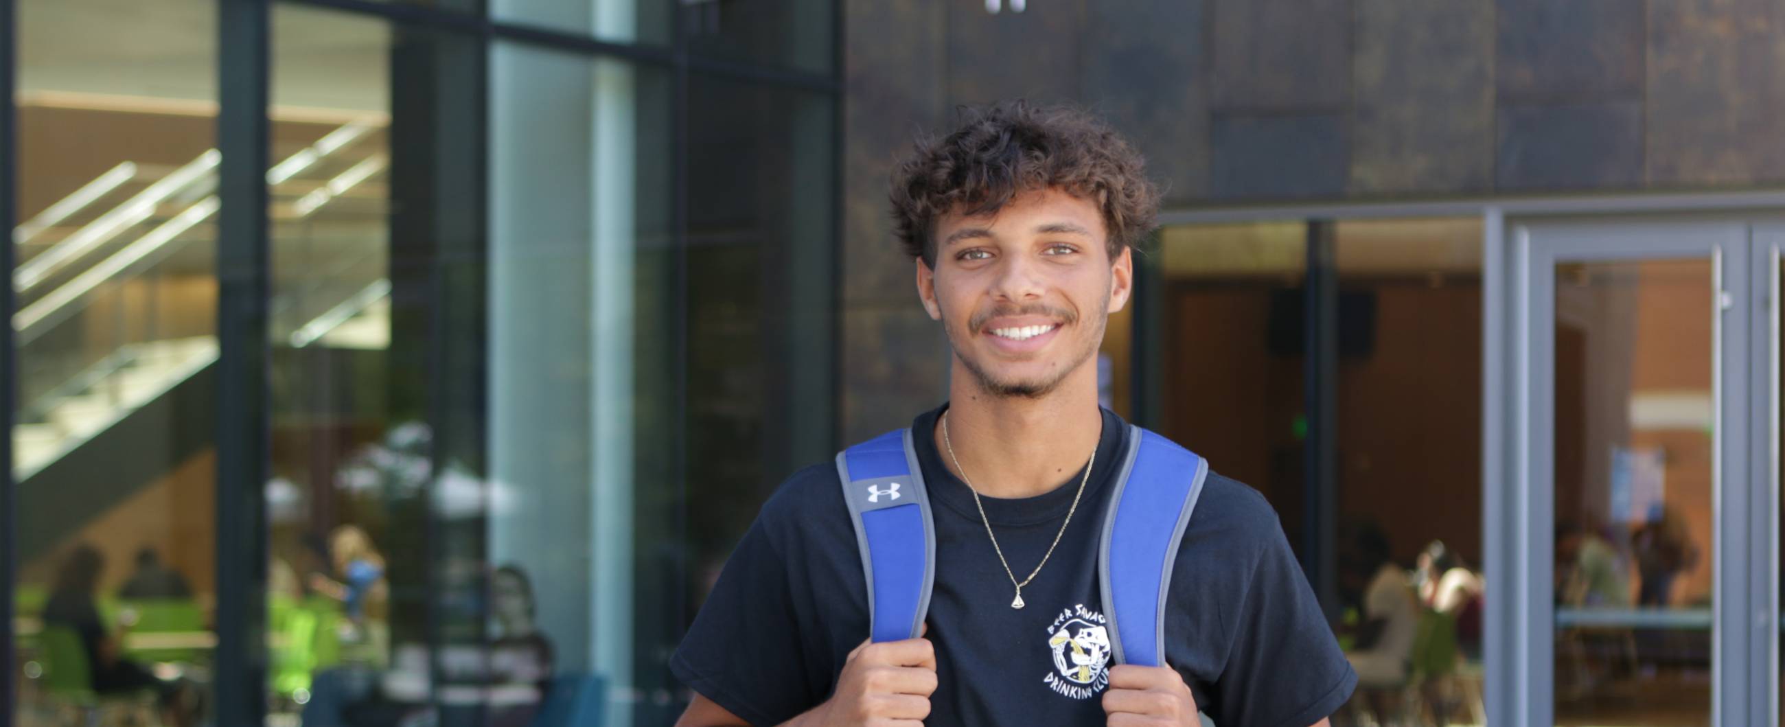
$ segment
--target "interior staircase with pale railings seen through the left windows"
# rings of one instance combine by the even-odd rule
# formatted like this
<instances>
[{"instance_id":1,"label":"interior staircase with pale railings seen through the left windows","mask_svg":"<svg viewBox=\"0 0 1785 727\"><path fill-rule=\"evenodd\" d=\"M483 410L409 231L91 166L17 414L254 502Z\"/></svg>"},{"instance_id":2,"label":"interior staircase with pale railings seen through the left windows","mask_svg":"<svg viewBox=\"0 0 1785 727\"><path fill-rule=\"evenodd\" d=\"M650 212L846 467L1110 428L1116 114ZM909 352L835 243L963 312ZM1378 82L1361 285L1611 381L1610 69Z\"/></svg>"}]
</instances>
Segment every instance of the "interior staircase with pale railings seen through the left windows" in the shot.
<instances>
[{"instance_id":1,"label":"interior staircase with pale railings seen through the left windows","mask_svg":"<svg viewBox=\"0 0 1785 727\"><path fill-rule=\"evenodd\" d=\"M387 347L382 123L268 170L268 345ZM220 159L120 161L12 229L25 557L212 441Z\"/></svg>"}]
</instances>

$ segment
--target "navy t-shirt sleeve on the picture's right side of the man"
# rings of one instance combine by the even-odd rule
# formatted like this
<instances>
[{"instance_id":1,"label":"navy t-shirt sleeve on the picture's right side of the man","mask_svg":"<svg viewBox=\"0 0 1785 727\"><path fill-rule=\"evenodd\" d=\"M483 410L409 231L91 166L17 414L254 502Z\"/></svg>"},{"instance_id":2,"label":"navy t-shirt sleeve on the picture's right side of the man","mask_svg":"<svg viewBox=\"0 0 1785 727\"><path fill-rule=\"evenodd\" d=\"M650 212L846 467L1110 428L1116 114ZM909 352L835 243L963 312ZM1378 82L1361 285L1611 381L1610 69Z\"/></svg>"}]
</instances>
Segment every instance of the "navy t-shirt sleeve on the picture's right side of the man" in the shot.
<instances>
[{"instance_id":1,"label":"navy t-shirt sleeve on the picture's right side of the man","mask_svg":"<svg viewBox=\"0 0 1785 727\"><path fill-rule=\"evenodd\" d=\"M1307 727L1339 711L1357 686L1282 525L1271 525L1232 611L1233 643L1210 714L1221 727Z\"/></svg>"}]
</instances>

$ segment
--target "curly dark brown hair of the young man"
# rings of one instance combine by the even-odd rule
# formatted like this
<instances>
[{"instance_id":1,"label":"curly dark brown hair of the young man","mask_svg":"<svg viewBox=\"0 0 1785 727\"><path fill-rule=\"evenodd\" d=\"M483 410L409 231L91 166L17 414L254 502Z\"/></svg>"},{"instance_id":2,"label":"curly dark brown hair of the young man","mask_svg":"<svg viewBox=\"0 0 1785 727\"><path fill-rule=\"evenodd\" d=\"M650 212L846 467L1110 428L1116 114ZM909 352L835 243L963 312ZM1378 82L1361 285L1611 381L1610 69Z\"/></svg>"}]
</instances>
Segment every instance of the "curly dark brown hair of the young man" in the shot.
<instances>
[{"instance_id":1,"label":"curly dark brown hair of the young man","mask_svg":"<svg viewBox=\"0 0 1785 727\"><path fill-rule=\"evenodd\" d=\"M1064 105L962 107L960 127L919 139L892 171L892 221L910 257L935 268L935 221L992 214L1017 193L1057 188L1103 211L1110 259L1153 230L1146 161L1096 116Z\"/></svg>"}]
</instances>

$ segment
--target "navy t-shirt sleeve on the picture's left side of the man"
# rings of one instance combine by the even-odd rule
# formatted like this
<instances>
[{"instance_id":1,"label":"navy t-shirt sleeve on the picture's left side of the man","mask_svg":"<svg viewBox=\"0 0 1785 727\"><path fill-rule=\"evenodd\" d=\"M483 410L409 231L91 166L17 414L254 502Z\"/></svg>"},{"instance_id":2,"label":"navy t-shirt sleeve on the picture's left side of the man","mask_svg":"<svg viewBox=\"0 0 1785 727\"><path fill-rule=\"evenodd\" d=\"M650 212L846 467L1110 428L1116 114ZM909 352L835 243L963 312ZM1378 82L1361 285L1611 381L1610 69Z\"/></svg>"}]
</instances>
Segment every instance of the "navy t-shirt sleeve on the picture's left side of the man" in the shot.
<instances>
[{"instance_id":1,"label":"navy t-shirt sleeve on the picture's left side of the man","mask_svg":"<svg viewBox=\"0 0 1785 727\"><path fill-rule=\"evenodd\" d=\"M748 720L778 725L818 706L801 654L787 561L764 518L744 534L669 661L691 689Z\"/></svg>"}]
</instances>

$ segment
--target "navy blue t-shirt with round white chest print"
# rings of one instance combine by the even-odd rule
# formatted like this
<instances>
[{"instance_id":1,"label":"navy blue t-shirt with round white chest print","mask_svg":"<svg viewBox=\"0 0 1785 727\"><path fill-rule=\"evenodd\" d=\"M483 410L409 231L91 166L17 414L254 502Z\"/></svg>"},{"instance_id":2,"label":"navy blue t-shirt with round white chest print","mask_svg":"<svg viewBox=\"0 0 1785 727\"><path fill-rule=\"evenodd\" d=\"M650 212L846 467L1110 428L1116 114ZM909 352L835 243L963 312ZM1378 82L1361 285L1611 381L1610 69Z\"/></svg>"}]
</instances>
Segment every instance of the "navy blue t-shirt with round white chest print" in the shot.
<instances>
[{"instance_id":1,"label":"navy blue t-shirt with round white chest print","mask_svg":"<svg viewBox=\"0 0 1785 727\"><path fill-rule=\"evenodd\" d=\"M946 409L946 405L942 407ZM1053 557L1016 589L998 563L973 493L935 447L942 409L912 422L935 518L935 584L925 638L939 686L932 725L1101 725L1108 688L1096 543L1126 423L1103 411L1083 500ZM1089 452L1087 452L1089 455ZM1219 464L1219 463L1212 463ZM1028 498L982 498L1010 570L1048 552L1083 470ZM669 666L753 725L776 725L830 697L850 650L868 638L868 586L834 463L800 470L762 506ZM1092 663L1064 648L1091 645ZM1107 639L1105 639L1107 641ZM1166 616L1166 661L1219 727L1305 727L1351 695L1346 663L1255 489L1210 473L1183 532Z\"/></svg>"}]
</instances>

